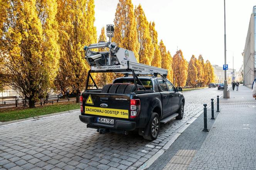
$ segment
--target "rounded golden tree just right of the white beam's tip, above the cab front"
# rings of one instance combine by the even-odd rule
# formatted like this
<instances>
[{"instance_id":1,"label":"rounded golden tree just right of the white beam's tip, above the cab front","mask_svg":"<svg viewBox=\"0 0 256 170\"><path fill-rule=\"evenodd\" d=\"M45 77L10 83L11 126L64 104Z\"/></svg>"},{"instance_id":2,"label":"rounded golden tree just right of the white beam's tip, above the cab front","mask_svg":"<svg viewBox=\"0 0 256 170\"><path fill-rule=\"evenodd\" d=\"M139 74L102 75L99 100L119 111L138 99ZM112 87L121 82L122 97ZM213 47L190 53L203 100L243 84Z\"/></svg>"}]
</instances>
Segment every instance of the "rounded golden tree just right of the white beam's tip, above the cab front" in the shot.
<instances>
[{"instance_id":1,"label":"rounded golden tree just right of the white beam's tip, above the cab front","mask_svg":"<svg viewBox=\"0 0 256 170\"><path fill-rule=\"evenodd\" d=\"M175 86L184 87L187 80L187 61L183 57L182 50L178 50L173 56L172 70L175 72L173 75Z\"/></svg>"}]
</instances>

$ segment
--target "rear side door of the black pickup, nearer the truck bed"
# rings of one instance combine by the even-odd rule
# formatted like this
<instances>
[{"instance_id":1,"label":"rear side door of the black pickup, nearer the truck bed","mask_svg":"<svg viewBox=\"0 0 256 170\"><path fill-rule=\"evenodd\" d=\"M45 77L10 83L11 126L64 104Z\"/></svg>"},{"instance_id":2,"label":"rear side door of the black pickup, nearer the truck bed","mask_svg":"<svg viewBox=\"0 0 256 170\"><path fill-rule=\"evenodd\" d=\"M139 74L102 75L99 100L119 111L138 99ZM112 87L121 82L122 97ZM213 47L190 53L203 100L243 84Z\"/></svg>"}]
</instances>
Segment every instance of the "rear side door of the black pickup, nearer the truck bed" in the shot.
<instances>
[{"instance_id":1,"label":"rear side door of the black pickup, nearer the truck bed","mask_svg":"<svg viewBox=\"0 0 256 170\"><path fill-rule=\"evenodd\" d=\"M171 113L171 98L170 98L170 93L167 89L166 83L159 79L158 80L160 89L161 89L161 96L162 96L162 108L163 108L163 118L170 115Z\"/></svg>"}]
</instances>

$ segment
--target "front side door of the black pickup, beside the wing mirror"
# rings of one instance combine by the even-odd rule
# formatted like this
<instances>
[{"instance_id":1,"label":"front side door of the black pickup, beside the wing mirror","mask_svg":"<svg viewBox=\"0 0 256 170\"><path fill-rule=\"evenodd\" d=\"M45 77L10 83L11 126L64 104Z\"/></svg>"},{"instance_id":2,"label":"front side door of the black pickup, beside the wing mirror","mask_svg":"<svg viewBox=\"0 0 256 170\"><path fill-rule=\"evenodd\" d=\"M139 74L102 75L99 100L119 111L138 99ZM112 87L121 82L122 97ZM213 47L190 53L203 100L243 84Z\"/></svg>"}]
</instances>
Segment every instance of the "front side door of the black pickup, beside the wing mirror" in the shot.
<instances>
[{"instance_id":1,"label":"front side door of the black pickup, beside the wing mirror","mask_svg":"<svg viewBox=\"0 0 256 170\"><path fill-rule=\"evenodd\" d=\"M167 81L166 84L167 84L169 94L171 96L172 113L174 113L179 109L180 94L176 92L175 87L170 81Z\"/></svg>"}]
</instances>

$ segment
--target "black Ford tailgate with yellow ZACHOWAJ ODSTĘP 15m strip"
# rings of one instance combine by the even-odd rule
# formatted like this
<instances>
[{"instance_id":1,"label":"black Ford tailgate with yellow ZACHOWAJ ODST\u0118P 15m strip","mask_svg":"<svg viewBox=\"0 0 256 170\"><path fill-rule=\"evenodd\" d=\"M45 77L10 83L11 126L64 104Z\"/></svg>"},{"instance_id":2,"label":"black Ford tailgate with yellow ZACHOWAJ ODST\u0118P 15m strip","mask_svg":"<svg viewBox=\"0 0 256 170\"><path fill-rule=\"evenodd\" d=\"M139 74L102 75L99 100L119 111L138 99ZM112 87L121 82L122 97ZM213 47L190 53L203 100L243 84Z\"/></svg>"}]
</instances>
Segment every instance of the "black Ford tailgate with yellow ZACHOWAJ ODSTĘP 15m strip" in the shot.
<instances>
[{"instance_id":1,"label":"black Ford tailgate with yellow ZACHOWAJ ODST\u0118P 15m strip","mask_svg":"<svg viewBox=\"0 0 256 170\"><path fill-rule=\"evenodd\" d=\"M129 118L130 94L83 93L85 114Z\"/></svg>"}]
</instances>

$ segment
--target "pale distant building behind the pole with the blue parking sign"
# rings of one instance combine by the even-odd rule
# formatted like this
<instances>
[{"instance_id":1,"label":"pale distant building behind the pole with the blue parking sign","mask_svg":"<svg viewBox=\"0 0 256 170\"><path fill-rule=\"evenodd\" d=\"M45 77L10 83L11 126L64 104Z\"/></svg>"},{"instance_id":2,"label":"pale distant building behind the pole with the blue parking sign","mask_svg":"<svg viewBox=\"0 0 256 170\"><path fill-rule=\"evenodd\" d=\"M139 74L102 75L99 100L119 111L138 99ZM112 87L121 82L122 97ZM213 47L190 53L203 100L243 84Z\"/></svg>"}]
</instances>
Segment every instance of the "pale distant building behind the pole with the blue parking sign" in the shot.
<instances>
[{"instance_id":1,"label":"pale distant building behind the pole with the blue parking sign","mask_svg":"<svg viewBox=\"0 0 256 170\"><path fill-rule=\"evenodd\" d=\"M223 70L223 67L218 66L218 65L212 65L214 69L214 74L215 74L215 83L224 83L225 80L225 73ZM234 72L234 73L233 73ZM233 76L234 74L234 76ZM232 82L232 77L236 78L236 69L229 68L227 70L227 84L231 84Z\"/></svg>"}]
</instances>

